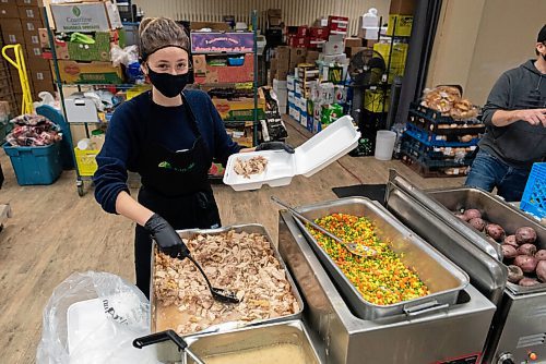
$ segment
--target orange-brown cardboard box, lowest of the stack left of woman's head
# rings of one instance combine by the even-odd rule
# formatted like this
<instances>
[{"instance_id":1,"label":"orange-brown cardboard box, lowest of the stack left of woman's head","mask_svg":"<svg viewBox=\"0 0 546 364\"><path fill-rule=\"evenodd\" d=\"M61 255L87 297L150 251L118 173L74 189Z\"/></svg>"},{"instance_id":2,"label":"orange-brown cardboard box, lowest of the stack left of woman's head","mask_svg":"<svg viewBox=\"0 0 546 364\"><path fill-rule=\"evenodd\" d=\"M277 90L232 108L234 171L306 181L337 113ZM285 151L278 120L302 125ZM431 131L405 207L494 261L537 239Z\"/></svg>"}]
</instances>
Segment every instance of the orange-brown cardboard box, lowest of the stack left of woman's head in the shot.
<instances>
[{"instance_id":1,"label":"orange-brown cardboard box, lowest of the stack left of woman's head","mask_svg":"<svg viewBox=\"0 0 546 364\"><path fill-rule=\"evenodd\" d=\"M110 62L59 61L61 82L68 84L122 84L121 66Z\"/></svg>"}]
</instances>

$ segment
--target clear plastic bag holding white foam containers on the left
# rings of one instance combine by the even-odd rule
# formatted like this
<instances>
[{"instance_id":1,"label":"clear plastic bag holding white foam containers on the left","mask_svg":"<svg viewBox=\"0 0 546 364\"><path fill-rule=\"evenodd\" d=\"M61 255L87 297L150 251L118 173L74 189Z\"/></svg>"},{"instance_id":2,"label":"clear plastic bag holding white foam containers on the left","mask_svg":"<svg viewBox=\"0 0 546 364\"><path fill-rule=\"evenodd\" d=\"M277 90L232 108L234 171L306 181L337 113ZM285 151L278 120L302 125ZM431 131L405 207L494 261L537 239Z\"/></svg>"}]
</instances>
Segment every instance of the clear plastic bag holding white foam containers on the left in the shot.
<instances>
[{"instance_id":1,"label":"clear plastic bag holding white foam containers on the left","mask_svg":"<svg viewBox=\"0 0 546 364\"><path fill-rule=\"evenodd\" d=\"M150 303L135 286L108 272L75 272L44 308L36 363L159 363L154 347L132 347L150 333L149 323Z\"/></svg>"}]
</instances>

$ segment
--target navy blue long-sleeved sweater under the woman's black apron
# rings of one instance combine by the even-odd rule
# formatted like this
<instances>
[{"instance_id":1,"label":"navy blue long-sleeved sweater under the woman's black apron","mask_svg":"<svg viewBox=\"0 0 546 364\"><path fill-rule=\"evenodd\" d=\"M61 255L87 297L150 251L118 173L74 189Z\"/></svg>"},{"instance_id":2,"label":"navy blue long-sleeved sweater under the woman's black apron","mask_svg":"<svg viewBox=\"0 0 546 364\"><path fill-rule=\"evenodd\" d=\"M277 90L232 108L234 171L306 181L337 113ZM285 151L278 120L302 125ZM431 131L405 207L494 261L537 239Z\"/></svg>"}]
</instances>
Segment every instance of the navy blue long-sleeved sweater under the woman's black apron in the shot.
<instances>
[{"instance_id":1,"label":"navy blue long-sleeved sweater under the woman's black apron","mask_svg":"<svg viewBox=\"0 0 546 364\"><path fill-rule=\"evenodd\" d=\"M211 98L200 90L185 92L195 114L198 128L212 156L226 163L240 146L227 135ZM93 177L95 198L107 213L116 214L116 198L129 193L127 171L140 172L141 150L146 141L157 142L170 150L190 149L195 135L183 106L162 107L152 101L150 92L119 106L108 124L106 141L96 161Z\"/></svg>"}]
</instances>

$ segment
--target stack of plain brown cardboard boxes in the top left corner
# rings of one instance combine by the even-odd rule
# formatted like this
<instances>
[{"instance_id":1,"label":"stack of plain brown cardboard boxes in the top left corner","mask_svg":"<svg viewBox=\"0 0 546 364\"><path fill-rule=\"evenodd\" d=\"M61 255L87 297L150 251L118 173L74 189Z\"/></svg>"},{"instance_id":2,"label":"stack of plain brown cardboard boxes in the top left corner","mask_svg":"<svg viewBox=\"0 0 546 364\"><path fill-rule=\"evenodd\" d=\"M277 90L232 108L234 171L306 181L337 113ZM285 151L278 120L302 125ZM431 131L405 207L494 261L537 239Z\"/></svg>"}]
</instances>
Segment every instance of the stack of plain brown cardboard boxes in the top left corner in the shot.
<instances>
[{"instance_id":1,"label":"stack of plain brown cardboard boxes in the top left corner","mask_svg":"<svg viewBox=\"0 0 546 364\"><path fill-rule=\"evenodd\" d=\"M44 9L39 0L2 0L0 27L4 45L20 44L24 51L28 84L33 98L39 92L55 92L49 62L41 57L38 28L43 27ZM19 71L10 66L16 109L21 109L22 87Z\"/></svg>"}]
</instances>

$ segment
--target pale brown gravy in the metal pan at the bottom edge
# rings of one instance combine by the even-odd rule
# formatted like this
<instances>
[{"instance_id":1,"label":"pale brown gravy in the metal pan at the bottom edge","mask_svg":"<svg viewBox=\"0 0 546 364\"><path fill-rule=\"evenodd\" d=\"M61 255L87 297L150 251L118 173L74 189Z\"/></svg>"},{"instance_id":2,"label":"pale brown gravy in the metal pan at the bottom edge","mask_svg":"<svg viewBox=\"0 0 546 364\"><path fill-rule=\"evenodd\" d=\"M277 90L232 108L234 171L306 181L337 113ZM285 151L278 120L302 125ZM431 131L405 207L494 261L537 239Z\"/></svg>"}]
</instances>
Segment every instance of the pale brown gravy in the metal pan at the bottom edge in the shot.
<instances>
[{"instance_id":1,"label":"pale brown gravy in the metal pan at the bottom edge","mask_svg":"<svg viewBox=\"0 0 546 364\"><path fill-rule=\"evenodd\" d=\"M206 364L306 364L302 349L293 343L280 343L201 359Z\"/></svg>"}]
</instances>

